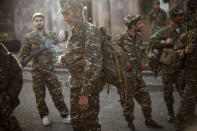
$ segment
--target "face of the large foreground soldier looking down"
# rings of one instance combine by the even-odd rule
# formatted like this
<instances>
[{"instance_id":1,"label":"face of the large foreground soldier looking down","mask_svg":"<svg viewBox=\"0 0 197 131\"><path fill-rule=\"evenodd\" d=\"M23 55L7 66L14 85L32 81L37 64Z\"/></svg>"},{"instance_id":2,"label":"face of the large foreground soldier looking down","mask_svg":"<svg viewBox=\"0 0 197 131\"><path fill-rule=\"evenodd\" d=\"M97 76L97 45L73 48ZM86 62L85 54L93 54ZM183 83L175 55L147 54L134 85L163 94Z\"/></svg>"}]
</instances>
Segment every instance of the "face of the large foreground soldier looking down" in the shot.
<instances>
[{"instance_id":1,"label":"face of the large foreground soldier looking down","mask_svg":"<svg viewBox=\"0 0 197 131\"><path fill-rule=\"evenodd\" d=\"M69 25L69 27L73 28L73 26L76 26L80 20L81 16L77 14L76 11L73 9L68 9L67 11L62 13L64 21Z\"/></svg>"}]
</instances>

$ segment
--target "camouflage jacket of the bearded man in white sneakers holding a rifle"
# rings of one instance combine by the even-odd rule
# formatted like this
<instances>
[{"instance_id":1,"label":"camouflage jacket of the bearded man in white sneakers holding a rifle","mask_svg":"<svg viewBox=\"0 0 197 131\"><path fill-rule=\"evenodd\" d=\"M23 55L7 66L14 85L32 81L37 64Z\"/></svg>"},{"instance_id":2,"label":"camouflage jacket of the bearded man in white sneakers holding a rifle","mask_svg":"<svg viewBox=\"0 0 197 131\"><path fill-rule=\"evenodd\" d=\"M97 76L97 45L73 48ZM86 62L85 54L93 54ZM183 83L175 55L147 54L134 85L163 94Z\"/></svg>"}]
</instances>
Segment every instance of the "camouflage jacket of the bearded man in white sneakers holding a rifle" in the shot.
<instances>
[{"instance_id":1,"label":"camouflage jacket of the bearded man in white sneakers holding a rifle","mask_svg":"<svg viewBox=\"0 0 197 131\"><path fill-rule=\"evenodd\" d=\"M56 33L44 32L43 37L54 40L57 37ZM39 36L36 30L28 33L25 37L23 47L19 52L19 60L23 61L25 57L29 56L31 52L43 46L45 39ZM32 72L50 72L53 71L53 53L50 50L44 51L38 57L32 59Z\"/></svg>"}]
</instances>

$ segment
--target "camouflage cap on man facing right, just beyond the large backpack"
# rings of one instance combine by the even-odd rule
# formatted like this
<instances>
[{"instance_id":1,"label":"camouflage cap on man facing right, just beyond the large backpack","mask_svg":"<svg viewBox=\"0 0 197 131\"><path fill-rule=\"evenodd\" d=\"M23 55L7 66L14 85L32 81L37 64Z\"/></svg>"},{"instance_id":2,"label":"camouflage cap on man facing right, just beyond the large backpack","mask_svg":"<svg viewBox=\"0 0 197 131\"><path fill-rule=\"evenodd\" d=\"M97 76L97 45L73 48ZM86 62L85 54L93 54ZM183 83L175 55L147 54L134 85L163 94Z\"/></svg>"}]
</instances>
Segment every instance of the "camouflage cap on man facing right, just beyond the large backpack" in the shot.
<instances>
[{"instance_id":1,"label":"camouflage cap on man facing right, just beyond the large backpack","mask_svg":"<svg viewBox=\"0 0 197 131\"><path fill-rule=\"evenodd\" d=\"M133 22L141 20L141 16L129 13L123 20L124 20L124 24L128 26L129 24Z\"/></svg>"}]
</instances>

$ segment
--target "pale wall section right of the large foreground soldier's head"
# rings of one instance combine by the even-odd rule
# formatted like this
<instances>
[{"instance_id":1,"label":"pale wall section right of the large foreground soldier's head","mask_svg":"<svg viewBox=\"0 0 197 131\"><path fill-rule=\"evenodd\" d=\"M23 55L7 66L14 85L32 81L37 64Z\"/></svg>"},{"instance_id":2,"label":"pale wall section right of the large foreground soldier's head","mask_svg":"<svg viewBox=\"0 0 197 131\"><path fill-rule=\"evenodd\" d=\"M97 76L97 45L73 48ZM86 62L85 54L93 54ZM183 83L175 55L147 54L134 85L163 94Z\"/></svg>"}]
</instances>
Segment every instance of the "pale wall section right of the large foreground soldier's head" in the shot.
<instances>
[{"instance_id":1,"label":"pale wall section right of the large foreground soldier's head","mask_svg":"<svg viewBox=\"0 0 197 131\"><path fill-rule=\"evenodd\" d=\"M107 2L108 1L108 2ZM112 36L126 31L123 18L129 13L141 14L143 2L139 0L92 0L93 22L98 26L104 26ZM168 4L160 0L161 8L168 13ZM110 3L110 5L108 5ZM151 35L151 25L148 20L149 12L143 16L144 29L142 32L143 40L148 41Z\"/></svg>"}]
</instances>

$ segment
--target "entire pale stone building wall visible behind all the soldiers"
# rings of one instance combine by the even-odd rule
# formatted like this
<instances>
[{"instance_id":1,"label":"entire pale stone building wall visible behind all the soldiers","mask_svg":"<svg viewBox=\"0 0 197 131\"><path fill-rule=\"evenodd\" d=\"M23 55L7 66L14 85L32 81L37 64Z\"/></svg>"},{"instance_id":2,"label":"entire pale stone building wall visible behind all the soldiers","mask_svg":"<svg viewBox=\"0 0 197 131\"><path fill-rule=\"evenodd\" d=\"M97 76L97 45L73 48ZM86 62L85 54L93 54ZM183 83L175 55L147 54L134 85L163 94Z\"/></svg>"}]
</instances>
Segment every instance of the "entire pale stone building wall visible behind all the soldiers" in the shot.
<instances>
[{"instance_id":1,"label":"entire pale stone building wall visible behind all the soldiers","mask_svg":"<svg viewBox=\"0 0 197 131\"><path fill-rule=\"evenodd\" d=\"M92 21L97 26L106 27L115 36L125 32L123 18L133 12L139 14L139 0L89 0L92 1ZM162 2L162 0L161 0ZM23 41L25 35L33 30L32 14L43 12L46 15L46 29L59 32L66 29L61 14L58 14L59 0L15 0L15 31L16 38ZM166 9L166 5L163 6ZM162 8L163 8L162 7ZM88 8L91 9L91 8ZM168 10L168 9L166 9ZM147 12L148 13L148 12ZM150 23L144 21L143 38L150 36Z\"/></svg>"}]
</instances>

